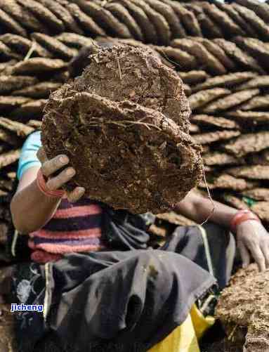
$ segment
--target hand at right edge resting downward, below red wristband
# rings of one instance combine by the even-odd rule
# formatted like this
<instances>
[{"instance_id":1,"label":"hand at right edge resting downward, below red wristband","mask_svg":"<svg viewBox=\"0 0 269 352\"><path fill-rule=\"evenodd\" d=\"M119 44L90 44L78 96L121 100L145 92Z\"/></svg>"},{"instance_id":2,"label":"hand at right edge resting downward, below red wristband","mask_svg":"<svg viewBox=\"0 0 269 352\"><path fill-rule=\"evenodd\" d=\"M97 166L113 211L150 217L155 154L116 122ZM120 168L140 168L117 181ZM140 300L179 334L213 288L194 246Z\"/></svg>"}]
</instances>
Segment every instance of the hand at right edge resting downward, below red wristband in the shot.
<instances>
[{"instance_id":1,"label":"hand at right edge resting downward, below red wristband","mask_svg":"<svg viewBox=\"0 0 269 352\"><path fill-rule=\"evenodd\" d=\"M247 220L237 226L237 245L242 256L243 268L246 268L251 256L264 271L269 268L269 234L261 223Z\"/></svg>"}]
</instances>

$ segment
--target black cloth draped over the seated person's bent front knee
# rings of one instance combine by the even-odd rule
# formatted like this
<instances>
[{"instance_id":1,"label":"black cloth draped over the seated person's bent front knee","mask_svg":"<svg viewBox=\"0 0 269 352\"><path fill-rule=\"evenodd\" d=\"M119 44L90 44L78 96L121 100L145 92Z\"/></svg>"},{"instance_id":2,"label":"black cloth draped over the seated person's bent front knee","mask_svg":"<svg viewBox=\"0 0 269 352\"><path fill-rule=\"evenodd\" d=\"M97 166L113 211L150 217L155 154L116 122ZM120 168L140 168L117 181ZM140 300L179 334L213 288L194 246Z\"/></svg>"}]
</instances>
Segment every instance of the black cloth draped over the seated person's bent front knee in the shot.
<instances>
[{"instance_id":1,"label":"black cloth draped over the seated person's bent front knee","mask_svg":"<svg viewBox=\"0 0 269 352\"><path fill-rule=\"evenodd\" d=\"M184 256L153 249L68 254L52 267L57 313L48 321L67 351L147 351L215 282Z\"/></svg>"}]
</instances>

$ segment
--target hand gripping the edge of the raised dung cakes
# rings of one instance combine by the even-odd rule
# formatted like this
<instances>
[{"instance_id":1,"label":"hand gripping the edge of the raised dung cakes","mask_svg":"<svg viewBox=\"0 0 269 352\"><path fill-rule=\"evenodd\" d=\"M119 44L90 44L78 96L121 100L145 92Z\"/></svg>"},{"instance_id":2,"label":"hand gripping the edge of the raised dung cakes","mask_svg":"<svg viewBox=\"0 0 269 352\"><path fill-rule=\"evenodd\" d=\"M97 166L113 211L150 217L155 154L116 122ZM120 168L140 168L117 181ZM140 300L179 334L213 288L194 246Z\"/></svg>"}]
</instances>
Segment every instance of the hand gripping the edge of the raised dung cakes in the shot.
<instances>
[{"instance_id":1,"label":"hand gripping the edge of the raised dung cakes","mask_svg":"<svg viewBox=\"0 0 269 352\"><path fill-rule=\"evenodd\" d=\"M67 166L69 159L67 155L58 155L53 157L53 159L48 159L44 148L39 148L37 152L37 157L41 162L41 171L44 176L48 178L46 182L46 187L48 190L60 190L65 183L71 180L76 174L76 171L72 167L66 167L57 176L53 176L55 171L62 169ZM85 188L76 187L72 192L67 193L67 200L69 202L77 202L85 193Z\"/></svg>"}]
</instances>

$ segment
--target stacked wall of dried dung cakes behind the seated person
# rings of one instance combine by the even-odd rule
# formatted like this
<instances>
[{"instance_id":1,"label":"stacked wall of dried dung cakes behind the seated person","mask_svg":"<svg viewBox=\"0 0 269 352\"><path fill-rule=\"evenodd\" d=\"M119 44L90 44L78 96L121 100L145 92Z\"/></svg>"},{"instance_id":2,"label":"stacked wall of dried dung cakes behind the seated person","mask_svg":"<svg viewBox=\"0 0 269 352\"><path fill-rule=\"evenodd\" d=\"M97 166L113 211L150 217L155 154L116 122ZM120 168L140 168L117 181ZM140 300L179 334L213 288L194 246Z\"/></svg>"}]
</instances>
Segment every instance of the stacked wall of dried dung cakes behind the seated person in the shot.
<instances>
[{"instance_id":1,"label":"stacked wall of dried dung cakes behind the seated person","mask_svg":"<svg viewBox=\"0 0 269 352\"><path fill-rule=\"evenodd\" d=\"M70 60L102 42L150 47L174 67L212 196L268 225L268 4L0 0L0 237L11 223L23 141L40 128L50 93L67 82Z\"/></svg>"}]
</instances>

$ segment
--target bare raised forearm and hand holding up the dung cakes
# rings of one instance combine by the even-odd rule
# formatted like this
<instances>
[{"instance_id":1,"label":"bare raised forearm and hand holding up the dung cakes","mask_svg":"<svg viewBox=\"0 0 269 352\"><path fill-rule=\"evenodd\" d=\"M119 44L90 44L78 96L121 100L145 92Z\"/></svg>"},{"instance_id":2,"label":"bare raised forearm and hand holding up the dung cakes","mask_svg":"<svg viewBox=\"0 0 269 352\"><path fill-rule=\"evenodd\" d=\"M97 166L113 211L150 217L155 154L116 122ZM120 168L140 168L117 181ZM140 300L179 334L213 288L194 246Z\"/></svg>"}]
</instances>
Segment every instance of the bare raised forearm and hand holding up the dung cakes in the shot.
<instances>
[{"instance_id":1,"label":"bare raised forearm and hand holding up the dung cakes","mask_svg":"<svg viewBox=\"0 0 269 352\"><path fill-rule=\"evenodd\" d=\"M38 153L41 161L41 170L48 177L46 187L48 190L58 190L74 176L75 170L67 167L53 177L53 173L69 162L65 155L59 155L51 160L46 159L42 148ZM63 157L63 159L61 159ZM43 227L51 219L60 203L60 197L48 197L37 186L38 167L31 167L22 175L18 190L11 201L11 214L15 228L19 233L31 233ZM72 202L84 194L84 188L75 188L68 195Z\"/></svg>"}]
</instances>

